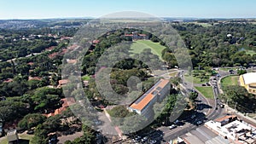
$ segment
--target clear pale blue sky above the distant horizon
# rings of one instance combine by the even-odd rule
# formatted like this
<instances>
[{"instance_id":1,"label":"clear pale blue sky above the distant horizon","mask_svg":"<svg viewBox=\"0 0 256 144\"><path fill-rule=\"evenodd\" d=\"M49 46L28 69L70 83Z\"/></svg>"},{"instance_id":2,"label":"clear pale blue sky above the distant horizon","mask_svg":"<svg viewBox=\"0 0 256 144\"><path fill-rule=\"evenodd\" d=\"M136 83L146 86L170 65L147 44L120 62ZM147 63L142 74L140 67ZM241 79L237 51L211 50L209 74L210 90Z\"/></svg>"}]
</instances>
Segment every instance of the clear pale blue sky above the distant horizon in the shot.
<instances>
[{"instance_id":1,"label":"clear pale blue sky above the distant horizon","mask_svg":"<svg viewBox=\"0 0 256 144\"><path fill-rule=\"evenodd\" d=\"M0 19L100 17L139 11L160 17L256 18L255 0L0 0Z\"/></svg>"}]
</instances>

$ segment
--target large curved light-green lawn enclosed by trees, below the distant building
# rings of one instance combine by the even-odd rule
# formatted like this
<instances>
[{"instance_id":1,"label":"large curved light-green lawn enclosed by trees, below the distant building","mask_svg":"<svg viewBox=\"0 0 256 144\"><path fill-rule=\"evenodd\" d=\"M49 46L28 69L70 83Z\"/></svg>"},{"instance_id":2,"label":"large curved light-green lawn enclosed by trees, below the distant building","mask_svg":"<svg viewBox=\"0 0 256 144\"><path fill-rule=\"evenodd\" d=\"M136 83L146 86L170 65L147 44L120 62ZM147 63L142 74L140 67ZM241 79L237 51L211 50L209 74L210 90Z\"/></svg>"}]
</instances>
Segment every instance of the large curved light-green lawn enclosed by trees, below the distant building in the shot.
<instances>
[{"instance_id":1,"label":"large curved light-green lawn enclosed by trees, below the distant building","mask_svg":"<svg viewBox=\"0 0 256 144\"><path fill-rule=\"evenodd\" d=\"M132 54L140 54L143 49L151 49L154 55L158 55L160 60L162 60L161 52L165 49L165 46L160 45L160 43L154 43L149 40L138 40L131 45L130 52Z\"/></svg>"}]
</instances>

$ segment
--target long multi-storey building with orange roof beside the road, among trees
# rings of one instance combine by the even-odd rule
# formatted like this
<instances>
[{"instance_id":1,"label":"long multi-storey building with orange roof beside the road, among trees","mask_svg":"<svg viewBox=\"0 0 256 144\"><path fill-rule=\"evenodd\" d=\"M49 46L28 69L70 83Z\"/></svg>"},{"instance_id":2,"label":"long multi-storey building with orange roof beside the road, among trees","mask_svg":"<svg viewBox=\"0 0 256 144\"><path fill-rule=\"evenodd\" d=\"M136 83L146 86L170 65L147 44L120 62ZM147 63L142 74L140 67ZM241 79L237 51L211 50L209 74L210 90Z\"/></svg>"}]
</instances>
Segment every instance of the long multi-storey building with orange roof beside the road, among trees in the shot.
<instances>
[{"instance_id":1,"label":"long multi-storey building with orange roof beside the road, among trees","mask_svg":"<svg viewBox=\"0 0 256 144\"><path fill-rule=\"evenodd\" d=\"M133 101L128 107L130 112L137 112L146 118L150 117L152 107L156 101L163 100L169 94L171 89L170 81L160 79L153 87L148 89L143 95Z\"/></svg>"}]
</instances>

